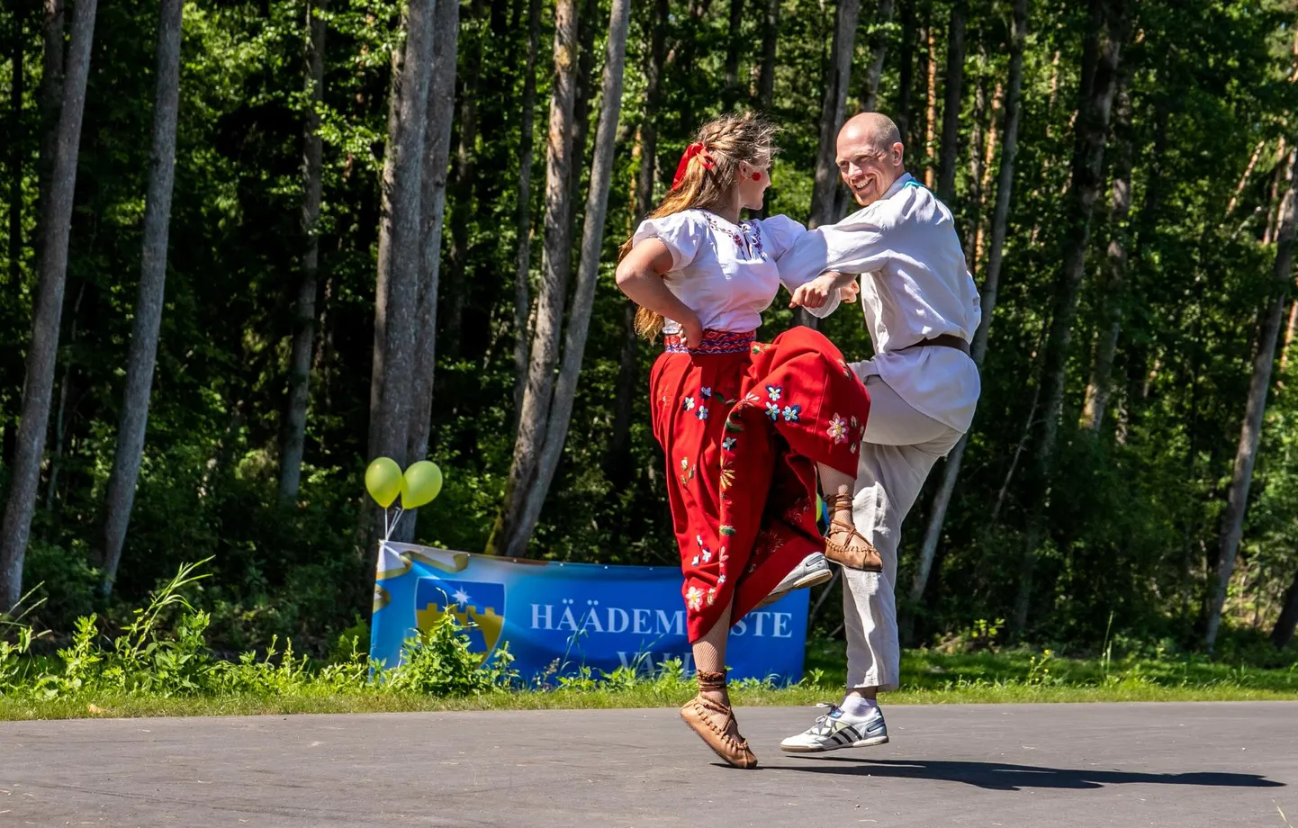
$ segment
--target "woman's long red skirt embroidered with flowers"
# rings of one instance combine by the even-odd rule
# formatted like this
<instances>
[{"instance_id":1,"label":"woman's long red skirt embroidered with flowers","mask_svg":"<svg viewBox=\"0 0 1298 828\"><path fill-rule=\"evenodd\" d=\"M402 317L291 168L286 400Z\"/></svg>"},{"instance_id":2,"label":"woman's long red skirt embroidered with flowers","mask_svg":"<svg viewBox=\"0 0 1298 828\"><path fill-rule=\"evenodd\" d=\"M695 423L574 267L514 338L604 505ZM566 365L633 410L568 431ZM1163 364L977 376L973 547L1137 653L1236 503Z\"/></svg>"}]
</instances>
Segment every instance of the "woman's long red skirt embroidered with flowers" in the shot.
<instances>
[{"instance_id":1,"label":"woman's long red skirt embroidered with flowers","mask_svg":"<svg viewBox=\"0 0 1298 828\"><path fill-rule=\"evenodd\" d=\"M803 558L824 550L816 463L857 475L870 395L823 335L796 327L770 345L706 331L667 336L649 379L667 456L691 642L729 605L737 623Z\"/></svg>"}]
</instances>

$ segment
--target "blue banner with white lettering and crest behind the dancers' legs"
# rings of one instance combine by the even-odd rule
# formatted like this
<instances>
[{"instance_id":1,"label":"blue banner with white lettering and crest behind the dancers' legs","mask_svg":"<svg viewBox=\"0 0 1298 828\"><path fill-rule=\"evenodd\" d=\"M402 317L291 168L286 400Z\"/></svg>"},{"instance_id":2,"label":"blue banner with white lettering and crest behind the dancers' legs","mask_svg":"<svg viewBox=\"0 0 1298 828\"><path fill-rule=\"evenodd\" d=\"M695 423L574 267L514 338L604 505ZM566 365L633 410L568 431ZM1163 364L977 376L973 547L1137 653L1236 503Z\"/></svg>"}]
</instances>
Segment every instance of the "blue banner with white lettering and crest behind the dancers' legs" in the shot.
<instances>
[{"instance_id":1,"label":"blue banner with white lettering and crest behind the dancers' legs","mask_svg":"<svg viewBox=\"0 0 1298 828\"><path fill-rule=\"evenodd\" d=\"M693 672L680 570L497 558L384 542L374 584L370 655L387 667L402 642L445 613L466 628L485 662L506 641L526 681L652 670L679 658ZM800 681L809 592L749 613L731 629L732 679Z\"/></svg>"}]
</instances>

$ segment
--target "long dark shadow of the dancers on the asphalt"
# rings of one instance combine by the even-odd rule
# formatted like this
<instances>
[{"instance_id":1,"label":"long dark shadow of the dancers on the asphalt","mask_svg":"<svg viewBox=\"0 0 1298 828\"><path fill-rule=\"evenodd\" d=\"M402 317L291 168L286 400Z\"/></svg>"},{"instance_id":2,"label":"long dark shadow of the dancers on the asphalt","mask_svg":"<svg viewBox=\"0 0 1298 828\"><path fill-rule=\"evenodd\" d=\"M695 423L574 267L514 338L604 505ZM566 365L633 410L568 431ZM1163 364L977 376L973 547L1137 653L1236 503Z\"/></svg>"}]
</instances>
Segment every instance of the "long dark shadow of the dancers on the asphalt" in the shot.
<instances>
[{"instance_id":1,"label":"long dark shadow of the dancers on the asphalt","mask_svg":"<svg viewBox=\"0 0 1298 828\"><path fill-rule=\"evenodd\" d=\"M767 764L766 767L772 767ZM948 762L931 759L849 759L824 757L807 762L781 763L780 770L810 773L849 773L858 776L890 776L894 779L931 779L964 783L988 790L1019 790L1022 788L1071 788L1085 790L1105 785L1203 785L1223 788L1284 788L1284 783L1255 773L1223 773L1198 771L1193 773L1137 773L1131 771L1102 771L1036 767L1031 764L1005 764L1001 762Z\"/></svg>"}]
</instances>

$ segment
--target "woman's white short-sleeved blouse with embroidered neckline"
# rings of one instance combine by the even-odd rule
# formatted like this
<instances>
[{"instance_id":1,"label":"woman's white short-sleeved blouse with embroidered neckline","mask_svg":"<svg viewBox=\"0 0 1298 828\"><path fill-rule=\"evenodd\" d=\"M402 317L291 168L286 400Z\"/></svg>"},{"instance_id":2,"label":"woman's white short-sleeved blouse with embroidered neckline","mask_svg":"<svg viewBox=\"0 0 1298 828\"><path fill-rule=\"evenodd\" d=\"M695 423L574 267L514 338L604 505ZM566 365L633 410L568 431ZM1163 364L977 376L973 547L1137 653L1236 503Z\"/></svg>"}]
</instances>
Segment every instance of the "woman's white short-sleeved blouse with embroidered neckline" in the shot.
<instances>
[{"instance_id":1,"label":"woman's white short-sleeved blouse with embroidered neckline","mask_svg":"<svg viewBox=\"0 0 1298 828\"><path fill-rule=\"evenodd\" d=\"M663 275L667 289L698 314L705 328L742 334L762 324L762 311L780 289L775 260L805 232L787 215L732 225L707 210L683 210L641 222L632 247L645 239L662 241L671 250L671 270ZM800 284L785 287L793 291ZM679 334L680 326L667 319L663 330Z\"/></svg>"}]
</instances>

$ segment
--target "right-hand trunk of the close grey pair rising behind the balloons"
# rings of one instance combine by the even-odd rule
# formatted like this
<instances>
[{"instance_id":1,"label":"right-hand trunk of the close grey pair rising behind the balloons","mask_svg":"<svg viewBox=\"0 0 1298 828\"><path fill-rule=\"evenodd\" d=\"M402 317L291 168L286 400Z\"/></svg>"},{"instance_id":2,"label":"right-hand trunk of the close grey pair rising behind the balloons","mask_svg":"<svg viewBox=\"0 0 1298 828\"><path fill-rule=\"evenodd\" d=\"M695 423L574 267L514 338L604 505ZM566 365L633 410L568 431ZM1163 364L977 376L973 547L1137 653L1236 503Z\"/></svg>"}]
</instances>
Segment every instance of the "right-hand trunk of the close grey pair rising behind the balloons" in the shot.
<instances>
[{"instance_id":1,"label":"right-hand trunk of the close grey pair rising behind the balloons","mask_svg":"<svg viewBox=\"0 0 1298 828\"><path fill-rule=\"evenodd\" d=\"M417 462L428 454L432 427L432 387L437 367L437 288L441 282L441 235L447 219L450 131L456 117L456 67L459 47L459 4L437 1L432 35L432 75L428 83L428 125L423 135L423 191L419 196L419 288L411 376L410 433L406 456ZM414 517L402 537L414 537Z\"/></svg>"}]
</instances>

